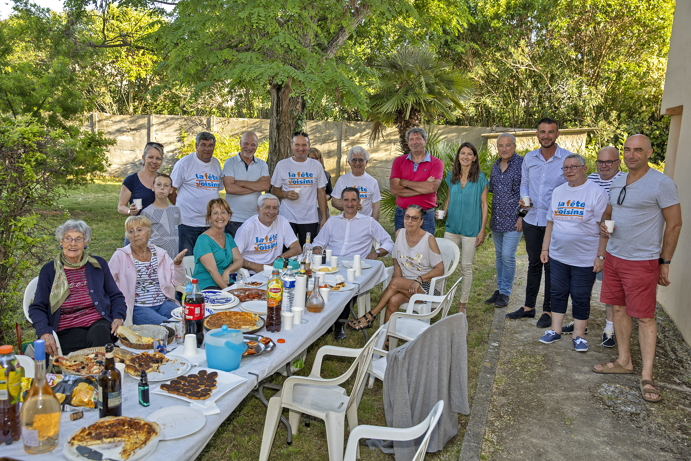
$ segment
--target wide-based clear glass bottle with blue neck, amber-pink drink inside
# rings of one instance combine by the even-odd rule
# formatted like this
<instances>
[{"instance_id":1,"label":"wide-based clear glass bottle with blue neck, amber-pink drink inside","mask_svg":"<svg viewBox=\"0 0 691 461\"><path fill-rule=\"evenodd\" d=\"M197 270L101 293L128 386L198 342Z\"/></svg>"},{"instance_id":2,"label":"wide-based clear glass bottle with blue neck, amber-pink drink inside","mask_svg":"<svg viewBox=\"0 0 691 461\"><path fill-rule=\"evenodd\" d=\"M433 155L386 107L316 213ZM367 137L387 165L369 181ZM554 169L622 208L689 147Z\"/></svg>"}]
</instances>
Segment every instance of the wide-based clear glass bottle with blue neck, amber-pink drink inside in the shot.
<instances>
[{"instance_id":1,"label":"wide-based clear glass bottle with blue neck, amber-pink drink inside","mask_svg":"<svg viewBox=\"0 0 691 461\"><path fill-rule=\"evenodd\" d=\"M21 436L27 453L46 453L57 446L60 402L46 381L46 341L34 341L36 377L21 405Z\"/></svg>"}]
</instances>

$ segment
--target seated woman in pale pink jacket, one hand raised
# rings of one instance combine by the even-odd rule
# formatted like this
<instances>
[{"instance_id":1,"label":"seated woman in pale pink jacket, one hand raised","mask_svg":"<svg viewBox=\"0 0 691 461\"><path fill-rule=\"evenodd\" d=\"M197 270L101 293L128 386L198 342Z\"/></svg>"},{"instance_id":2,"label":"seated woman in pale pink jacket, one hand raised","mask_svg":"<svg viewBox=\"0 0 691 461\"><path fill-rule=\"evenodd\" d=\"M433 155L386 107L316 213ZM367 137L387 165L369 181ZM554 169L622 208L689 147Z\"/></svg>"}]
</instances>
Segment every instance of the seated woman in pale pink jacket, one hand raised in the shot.
<instances>
[{"instance_id":1,"label":"seated woman in pale pink jacket, one hand raised","mask_svg":"<svg viewBox=\"0 0 691 461\"><path fill-rule=\"evenodd\" d=\"M158 325L180 306L175 287L184 283L182 258L187 249L171 259L166 250L149 243L151 221L146 216L127 218L125 236L130 244L115 250L108 261L117 288L125 295L125 323Z\"/></svg>"}]
</instances>

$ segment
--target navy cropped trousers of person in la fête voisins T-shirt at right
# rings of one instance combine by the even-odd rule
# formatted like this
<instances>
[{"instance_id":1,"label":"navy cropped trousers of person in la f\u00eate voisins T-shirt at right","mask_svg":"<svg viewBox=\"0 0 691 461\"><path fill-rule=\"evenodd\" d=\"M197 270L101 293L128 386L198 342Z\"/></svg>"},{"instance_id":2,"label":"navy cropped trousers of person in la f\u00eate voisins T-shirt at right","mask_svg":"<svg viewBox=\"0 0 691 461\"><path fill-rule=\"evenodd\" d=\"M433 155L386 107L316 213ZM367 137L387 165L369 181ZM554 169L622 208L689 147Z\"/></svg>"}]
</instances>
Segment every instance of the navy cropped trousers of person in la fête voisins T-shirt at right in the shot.
<instances>
[{"instance_id":1,"label":"navy cropped trousers of person in la f\u00eate voisins T-shirt at right","mask_svg":"<svg viewBox=\"0 0 691 461\"><path fill-rule=\"evenodd\" d=\"M590 317L590 294L596 276L593 266L578 267L553 258L549 258L549 262L552 312L566 314L570 294L574 319L587 320Z\"/></svg>"}]
</instances>

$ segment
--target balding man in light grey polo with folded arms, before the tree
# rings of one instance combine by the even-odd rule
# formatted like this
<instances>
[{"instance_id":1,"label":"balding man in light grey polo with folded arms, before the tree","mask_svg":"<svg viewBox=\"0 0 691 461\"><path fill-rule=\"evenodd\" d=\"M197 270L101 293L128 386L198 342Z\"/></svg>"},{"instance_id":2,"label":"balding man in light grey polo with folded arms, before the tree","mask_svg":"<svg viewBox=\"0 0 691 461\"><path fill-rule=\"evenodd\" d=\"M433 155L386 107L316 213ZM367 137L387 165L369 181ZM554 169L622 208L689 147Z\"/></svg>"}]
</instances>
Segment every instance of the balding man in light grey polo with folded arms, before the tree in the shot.
<instances>
[{"instance_id":1,"label":"balding man in light grey polo with folded arms, before the tree","mask_svg":"<svg viewBox=\"0 0 691 461\"><path fill-rule=\"evenodd\" d=\"M233 238L247 219L256 216L258 198L271 187L268 165L254 156L258 145L257 135L247 131L240 139L240 152L225 161L220 173L225 187L225 200L233 211L225 232Z\"/></svg>"}]
</instances>

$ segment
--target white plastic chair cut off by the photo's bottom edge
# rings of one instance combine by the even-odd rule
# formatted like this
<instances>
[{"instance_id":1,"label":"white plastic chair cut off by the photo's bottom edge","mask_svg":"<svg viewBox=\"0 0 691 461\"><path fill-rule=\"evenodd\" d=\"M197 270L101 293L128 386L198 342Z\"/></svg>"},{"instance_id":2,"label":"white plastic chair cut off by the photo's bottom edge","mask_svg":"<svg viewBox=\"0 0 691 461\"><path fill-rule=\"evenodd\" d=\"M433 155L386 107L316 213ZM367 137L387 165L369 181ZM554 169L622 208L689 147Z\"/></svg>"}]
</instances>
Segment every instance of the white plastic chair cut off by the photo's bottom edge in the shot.
<instances>
[{"instance_id":1,"label":"white plastic chair cut off by the photo's bottom edge","mask_svg":"<svg viewBox=\"0 0 691 461\"><path fill-rule=\"evenodd\" d=\"M437 427L439 418L442 417L444 411L444 400L439 400L430 411L430 414L420 423L413 427L401 429L398 427L381 427L370 426L368 424L361 424L350 431L348 437L348 445L345 446L345 455L343 461L355 461L359 449L360 439L381 439L381 440L415 440L420 435L424 434L419 448L413 456L411 461L422 461L427 454L427 446L432 437L432 431Z\"/></svg>"}]
</instances>

